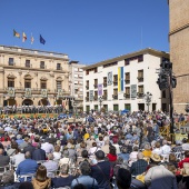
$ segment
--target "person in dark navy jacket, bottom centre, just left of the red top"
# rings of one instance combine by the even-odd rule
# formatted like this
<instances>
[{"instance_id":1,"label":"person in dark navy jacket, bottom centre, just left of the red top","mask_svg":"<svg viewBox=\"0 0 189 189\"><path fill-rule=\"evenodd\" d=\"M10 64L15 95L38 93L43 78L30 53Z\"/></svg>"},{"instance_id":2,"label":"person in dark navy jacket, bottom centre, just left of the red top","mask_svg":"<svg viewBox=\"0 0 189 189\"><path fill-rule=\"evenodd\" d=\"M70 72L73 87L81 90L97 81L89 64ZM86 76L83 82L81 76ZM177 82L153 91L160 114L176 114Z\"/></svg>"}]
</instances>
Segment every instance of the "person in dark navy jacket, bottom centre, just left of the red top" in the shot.
<instances>
[{"instance_id":1,"label":"person in dark navy jacket, bottom centre, just left of the red top","mask_svg":"<svg viewBox=\"0 0 189 189\"><path fill-rule=\"evenodd\" d=\"M105 152L98 150L96 152L97 165L91 167L91 176L97 180L99 189L110 189L111 165L105 161Z\"/></svg>"}]
</instances>

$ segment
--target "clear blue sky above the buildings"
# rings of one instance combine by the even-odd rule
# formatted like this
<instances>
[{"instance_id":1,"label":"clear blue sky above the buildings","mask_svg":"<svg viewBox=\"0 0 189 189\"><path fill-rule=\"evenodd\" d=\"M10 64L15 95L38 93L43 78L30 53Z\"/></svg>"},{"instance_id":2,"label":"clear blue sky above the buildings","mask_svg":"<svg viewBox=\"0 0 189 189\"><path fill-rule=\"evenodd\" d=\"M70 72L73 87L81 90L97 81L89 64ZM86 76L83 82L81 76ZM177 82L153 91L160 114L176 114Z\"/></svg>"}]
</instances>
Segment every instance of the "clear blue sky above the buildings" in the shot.
<instances>
[{"instance_id":1,"label":"clear blue sky above the buildings","mask_svg":"<svg viewBox=\"0 0 189 189\"><path fill-rule=\"evenodd\" d=\"M24 43L13 29L26 32ZM169 51L168 32L166 0L0 0L0 44L67 53L84 64L145 48Z\"/></svg>"}]
</instances>

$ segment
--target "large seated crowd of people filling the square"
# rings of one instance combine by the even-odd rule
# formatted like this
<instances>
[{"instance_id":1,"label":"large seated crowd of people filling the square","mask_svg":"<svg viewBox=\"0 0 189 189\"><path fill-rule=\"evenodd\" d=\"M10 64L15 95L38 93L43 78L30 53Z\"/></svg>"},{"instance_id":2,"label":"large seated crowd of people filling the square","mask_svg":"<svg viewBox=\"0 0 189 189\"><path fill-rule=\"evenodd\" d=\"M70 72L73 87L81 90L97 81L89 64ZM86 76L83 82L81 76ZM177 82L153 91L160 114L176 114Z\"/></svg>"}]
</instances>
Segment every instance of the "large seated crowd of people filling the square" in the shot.
<instances>
[{"instance_id":1,"label":"large seated crowd of people filling the square","mask_svg":"<svg viewBox=\"0 0 189 189\"><path fill-rule=\"evenodd\" d=\"M178 121L188 117L180 115ZM82 122L0 119L3 189L189 188L189 141L161 136L161 111L92 111Z\"/></svg>"}]
</instances>

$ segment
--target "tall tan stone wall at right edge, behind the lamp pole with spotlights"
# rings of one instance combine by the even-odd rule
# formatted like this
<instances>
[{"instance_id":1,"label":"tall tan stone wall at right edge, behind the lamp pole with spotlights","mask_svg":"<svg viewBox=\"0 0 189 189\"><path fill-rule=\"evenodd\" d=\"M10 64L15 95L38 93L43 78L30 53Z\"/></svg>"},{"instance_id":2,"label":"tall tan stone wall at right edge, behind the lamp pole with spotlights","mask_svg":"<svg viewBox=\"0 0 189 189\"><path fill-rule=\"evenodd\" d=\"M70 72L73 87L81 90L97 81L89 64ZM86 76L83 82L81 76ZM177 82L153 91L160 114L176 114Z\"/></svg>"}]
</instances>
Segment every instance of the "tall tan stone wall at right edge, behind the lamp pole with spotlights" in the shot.
<instances>
[{"instance_id":1,"label":"tall tan stone wall at right edge, behind the lamp pole with spotlights","mask_svg":"<svg viewBox=\"0 0 189 189\"><path fill-rule=\"evenodd\" d=\"M173 109L185 112L189 105L189 0L169 0L170 61L177 77Z\"/></svg>"}]
</instances>

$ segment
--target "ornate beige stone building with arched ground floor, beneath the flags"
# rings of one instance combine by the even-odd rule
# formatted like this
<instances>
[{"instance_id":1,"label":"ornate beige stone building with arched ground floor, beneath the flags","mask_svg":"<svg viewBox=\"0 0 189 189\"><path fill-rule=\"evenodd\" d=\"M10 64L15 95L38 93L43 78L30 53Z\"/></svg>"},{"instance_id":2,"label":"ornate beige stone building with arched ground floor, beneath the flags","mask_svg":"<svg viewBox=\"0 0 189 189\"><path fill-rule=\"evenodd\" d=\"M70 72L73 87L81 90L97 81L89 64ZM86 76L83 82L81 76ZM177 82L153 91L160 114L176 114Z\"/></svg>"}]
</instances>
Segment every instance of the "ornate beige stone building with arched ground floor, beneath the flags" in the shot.
<instances>
[{"instance_id":1,"label":"ornate beige stone building with arched ground floor, beneath the flags","mask_svg":"<svg viewBox=\"0 0 189 189\"><path fill-rule=\"evenodd\" d=\"M68 108L67 54L0 46L0 106L54 106Z\"/></svg>"}]
</instances>

